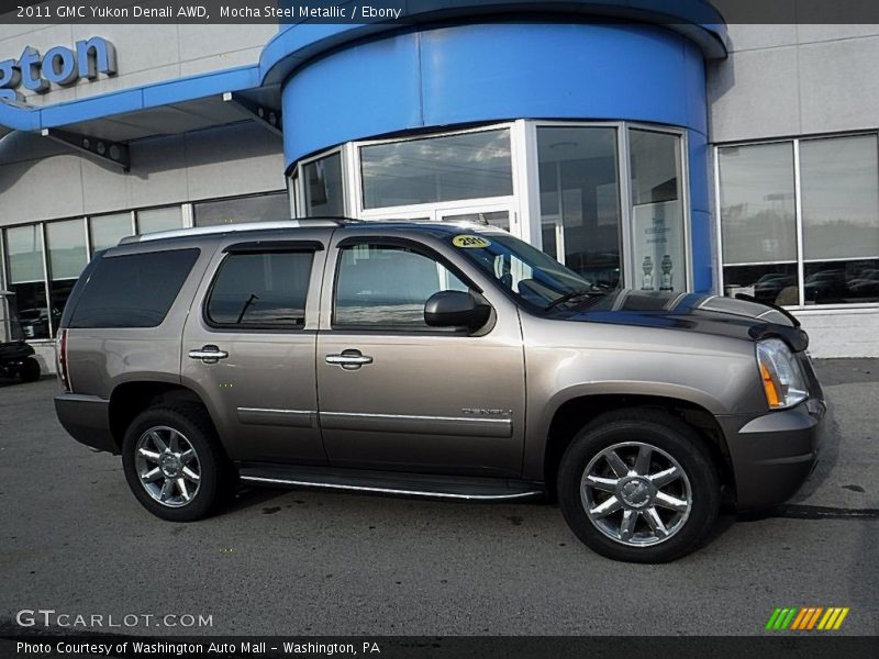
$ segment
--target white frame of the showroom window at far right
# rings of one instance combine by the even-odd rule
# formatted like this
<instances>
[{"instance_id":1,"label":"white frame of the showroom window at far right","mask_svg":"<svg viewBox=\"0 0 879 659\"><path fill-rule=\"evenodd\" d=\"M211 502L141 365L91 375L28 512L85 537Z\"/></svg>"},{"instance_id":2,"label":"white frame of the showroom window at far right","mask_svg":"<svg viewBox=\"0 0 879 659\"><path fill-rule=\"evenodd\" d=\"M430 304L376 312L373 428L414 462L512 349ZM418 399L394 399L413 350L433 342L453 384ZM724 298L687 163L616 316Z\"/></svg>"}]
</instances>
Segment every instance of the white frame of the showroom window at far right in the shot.
<instances>
[{"instance_id":1,"label":"white frame of the showroom window at far right","mask_svg":"<svg viewBox=\"0 0 879 659\"><path fill-rule=\"evenodd\" d=\"M805 264L806 263L848 263L848 261L857 261L857 260L866 260L867 257L850 257L850 258L832 258L832 259L805 259L804 256L804 245L803 245L803 234L804 234L804 226L803 226L803 209L802 209L802 178L801 178L801 167L800 167L800 145L803 142L814 142L817 139L833 139L837 137L874 137L877 141L877 150L879 150L879 131L846 131L841 133L817 133L814 135L798 135L798 136L786 136L786 137L772 137L772 138L764 138L764 139L753 139L753 141L739 141L739 142L723 142L723 143L715 143L713 145L713 153L712 153L712 167L713 178L714 178L714 231L712 237L715 243L715 250L714 250L714 277L715 281L717 282L717 291L719 294L724 294L724 276L723 269L725 267L736 267L736 266L757 266L757 265L771 265L771 264L783 264L790 265L793 264L797 267L797 277L798 281L798 301L799 303L795 305L783 305L785 309L794 311L797 313L806 313L812 315L821 315L824 313L835 313L838 311L871 311L879 309L879 301L876 302L848 302L848 303L834 303L834 304L806 304L805 303ZM769 145L769 144L791 144L793 149L793 199L794 199L794 224L797 230L797 259L795 260L778 260L771 261L770 264L727 264L723 259L723 217L721 215L721 171L720 171L720 153L723 148L734 148L734 147L748 147L748 146L760 146L760 145ZM877 178L877 186L879 186L879 178ZM877 255L879 258L879 255Z\"/></svg>"}]
</instances>

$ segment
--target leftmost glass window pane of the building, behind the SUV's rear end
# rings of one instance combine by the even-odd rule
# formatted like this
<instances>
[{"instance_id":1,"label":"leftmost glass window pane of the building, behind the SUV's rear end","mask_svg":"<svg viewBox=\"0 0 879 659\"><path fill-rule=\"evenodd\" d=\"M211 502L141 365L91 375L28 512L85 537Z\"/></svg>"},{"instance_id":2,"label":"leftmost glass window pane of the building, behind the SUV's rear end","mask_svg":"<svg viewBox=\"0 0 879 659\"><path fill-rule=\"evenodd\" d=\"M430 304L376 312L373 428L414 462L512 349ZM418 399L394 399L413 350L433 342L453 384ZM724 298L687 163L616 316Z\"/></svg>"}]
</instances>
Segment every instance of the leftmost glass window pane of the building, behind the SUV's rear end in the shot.
<instances>
[{"instance_id":1,"label":"leftmost glass window pane of the building, behind the SUV's rear end","mask_svg":"<svg viewBox=\"0 0 879 659\"><path fill-rule=\"evenodd\" d=\"M49 338L41 225L5 230L5 245L10 314L19 317L24 338Z\"/></svg>"}]
</instances>

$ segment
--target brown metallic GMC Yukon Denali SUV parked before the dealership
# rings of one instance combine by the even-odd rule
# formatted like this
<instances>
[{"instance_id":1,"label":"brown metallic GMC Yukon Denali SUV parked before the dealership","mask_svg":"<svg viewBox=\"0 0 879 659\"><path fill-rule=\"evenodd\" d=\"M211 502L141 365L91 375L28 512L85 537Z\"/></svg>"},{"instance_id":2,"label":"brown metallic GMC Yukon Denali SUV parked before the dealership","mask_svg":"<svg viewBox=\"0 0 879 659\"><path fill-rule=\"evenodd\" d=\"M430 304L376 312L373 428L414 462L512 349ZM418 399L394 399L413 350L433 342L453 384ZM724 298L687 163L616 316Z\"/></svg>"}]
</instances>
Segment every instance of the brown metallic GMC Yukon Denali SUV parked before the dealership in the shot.
<instances>
[{"instance_id":1,"label":"brown metallic GMC Yukon Denali SUV parked before the dealership","mask_svg":"<svg viewBox=\"0 0 879 659\"><path fill-rule=\"evenodd\" d=\"M599 292L487 226L126 238L86 268L60 327L62 424L121 454L137 500L171 521L237 480L549 495L596 551L666 561L705 540L722 498L791 496L825 412L786 312Z\"/></svg>"}]
</instances>

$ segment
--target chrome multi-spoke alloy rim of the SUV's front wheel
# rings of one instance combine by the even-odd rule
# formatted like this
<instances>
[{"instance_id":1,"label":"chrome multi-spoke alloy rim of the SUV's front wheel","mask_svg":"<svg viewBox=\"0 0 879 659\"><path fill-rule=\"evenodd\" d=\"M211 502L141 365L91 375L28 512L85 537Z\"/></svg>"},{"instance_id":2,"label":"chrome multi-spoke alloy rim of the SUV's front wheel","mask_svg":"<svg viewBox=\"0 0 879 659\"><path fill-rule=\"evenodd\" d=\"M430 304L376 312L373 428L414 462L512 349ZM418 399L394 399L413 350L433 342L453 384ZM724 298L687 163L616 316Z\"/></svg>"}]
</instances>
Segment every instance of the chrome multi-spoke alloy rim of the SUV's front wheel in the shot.
<instances>
[{"instance_id":1,"label":"chrome multi-spoke alloy rim of the SUV's front wheel","mask_svg":"<svg viewBox=\"0 0 879 659\"><path fill-rule=\"evenodd\" d=\"M667 540L683 528L693 505L680 463L641 442L609 446L592 458L580 499L596 528L630 547Z\"/></svg>"}]
</instances>

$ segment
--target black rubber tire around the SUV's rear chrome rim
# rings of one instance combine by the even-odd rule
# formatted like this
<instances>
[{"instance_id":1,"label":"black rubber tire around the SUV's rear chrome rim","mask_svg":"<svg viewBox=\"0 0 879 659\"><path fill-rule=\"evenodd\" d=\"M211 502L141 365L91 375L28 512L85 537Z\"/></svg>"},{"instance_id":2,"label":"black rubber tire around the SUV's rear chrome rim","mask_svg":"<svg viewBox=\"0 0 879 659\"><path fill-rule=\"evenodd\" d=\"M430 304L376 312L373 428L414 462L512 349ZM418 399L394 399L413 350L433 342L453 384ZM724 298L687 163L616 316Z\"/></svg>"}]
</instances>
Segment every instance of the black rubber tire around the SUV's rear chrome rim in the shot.
<instances>
[{"instance_id":1,"label":"black rubber tire around the SUV's rear chrome rim","mask_svg":"<svg viewBox=\"0 0 879 659\"><path fill-rule=\"evenodd\" d=\"M155 499L147 491L147 485L142 482L140 476L141 469L153 465L145 466L144 462L141 462L138 468L137 444L151 428L159 427L176 431L185 442L188 442L194 450L200 476L194 494L190 494L191 499L174 506L170 505L170 501L166 504ZM162 431L160 434L164 437L169 436L165 431ZM154 406L138 414L129 425L122 442L122 466L125 471L125 480L141 505L157 517L171 522L201 520L218 510L233 493L234 469L222 449L207 411L197 404ZM182 477L182 474L179 476ZM164 476L160 478L163 482L177 480L177 478L166 479ZM187 479L186 487L189 489L193 484ZM171 484L171 488L176 491L176 498L182 499L182 489L176 484Z\"/></svg>"}]
</instances>

